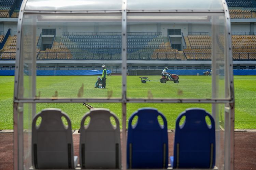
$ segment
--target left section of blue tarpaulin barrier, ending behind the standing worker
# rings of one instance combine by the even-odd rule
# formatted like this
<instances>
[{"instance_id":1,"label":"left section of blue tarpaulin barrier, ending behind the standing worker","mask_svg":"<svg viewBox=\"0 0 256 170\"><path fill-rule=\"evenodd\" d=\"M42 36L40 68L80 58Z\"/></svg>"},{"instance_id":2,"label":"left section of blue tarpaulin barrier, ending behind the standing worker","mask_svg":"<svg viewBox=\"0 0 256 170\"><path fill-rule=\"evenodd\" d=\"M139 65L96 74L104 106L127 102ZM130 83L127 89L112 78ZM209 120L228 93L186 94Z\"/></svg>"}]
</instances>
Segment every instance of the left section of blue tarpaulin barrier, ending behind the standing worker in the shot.
<instances>
[{"instance_id":1,"label":"left section of blue tarpaulin barrier, ending behind the standing worker","mask_svg":"<svg viewBox=\"0 0 256 170\"><path fill-rule=\"evenodd\" d=\"M111 70L107 70L107 74L110 73ZM14 75L14 70L0 70L0 75ZM102 70L37 70L37 75L102 75Z\"/></svg>"}]
</instances>

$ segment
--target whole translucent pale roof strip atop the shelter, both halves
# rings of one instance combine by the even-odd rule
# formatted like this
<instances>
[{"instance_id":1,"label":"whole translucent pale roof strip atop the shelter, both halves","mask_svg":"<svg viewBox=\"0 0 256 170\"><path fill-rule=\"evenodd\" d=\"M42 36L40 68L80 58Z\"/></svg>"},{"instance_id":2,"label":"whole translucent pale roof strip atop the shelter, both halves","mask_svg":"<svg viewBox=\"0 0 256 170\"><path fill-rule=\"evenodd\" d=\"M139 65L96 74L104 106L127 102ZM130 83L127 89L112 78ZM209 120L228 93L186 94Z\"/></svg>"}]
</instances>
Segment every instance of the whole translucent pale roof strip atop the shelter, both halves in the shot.
<instances>
[{"instance_id":1,"label":"whole translucent pale roof strip atop the shelter, both halves","mask_svg":"<svg viewBox=\"0 0 256 170\"><path fill-rule=\"evenodd\" d=\"M28 0L25 11L120 11L122 0ZM223 10L221 0L127 0L127 10Z\"/></svg>"}]
</instances>

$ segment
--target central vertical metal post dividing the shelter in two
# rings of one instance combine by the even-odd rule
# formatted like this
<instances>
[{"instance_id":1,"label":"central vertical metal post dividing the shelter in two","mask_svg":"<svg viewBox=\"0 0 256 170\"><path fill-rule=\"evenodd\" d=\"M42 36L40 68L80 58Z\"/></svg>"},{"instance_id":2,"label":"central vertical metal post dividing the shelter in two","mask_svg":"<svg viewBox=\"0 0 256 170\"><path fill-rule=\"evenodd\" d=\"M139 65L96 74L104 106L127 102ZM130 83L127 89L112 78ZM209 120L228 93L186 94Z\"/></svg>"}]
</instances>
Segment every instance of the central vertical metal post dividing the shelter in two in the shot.
<instances>
[{"instance_id":1,"label":"central vertical metal post dividing the shelter in two","mask_svg":"<svg viewBox=\"0 0 256 170\"><path fill-rule=\"evenodd\" d=\"M123 0L122 2L122 123L123 123L123 131L122 131L122 169L126 170L126 67L127 67L127 0Z\"/></svg>"}]
</instances>

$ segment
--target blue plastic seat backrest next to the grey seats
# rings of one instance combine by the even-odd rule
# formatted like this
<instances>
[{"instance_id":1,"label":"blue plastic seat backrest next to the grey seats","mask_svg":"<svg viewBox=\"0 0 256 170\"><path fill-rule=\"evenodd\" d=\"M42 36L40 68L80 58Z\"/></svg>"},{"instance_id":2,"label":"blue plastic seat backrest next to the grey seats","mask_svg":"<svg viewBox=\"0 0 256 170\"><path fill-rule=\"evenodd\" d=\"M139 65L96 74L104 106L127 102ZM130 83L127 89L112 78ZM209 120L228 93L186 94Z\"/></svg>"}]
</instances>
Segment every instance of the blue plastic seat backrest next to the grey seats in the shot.
<instances>
[{"instance_id":1,"label":"blue plastic seat backrest next to the grey seats","mask_svg":"<svg viewBox=\"0 0 256 170\"><path fill-rule=\"evenodd\" d=\"M132 120L138 116L137 123ZM163 125L158 122L163 120ZM155 108L141 108L133 113L128 122L127 167L167 168L168 134L167 121Z\"/></svg>"}]
</instances>

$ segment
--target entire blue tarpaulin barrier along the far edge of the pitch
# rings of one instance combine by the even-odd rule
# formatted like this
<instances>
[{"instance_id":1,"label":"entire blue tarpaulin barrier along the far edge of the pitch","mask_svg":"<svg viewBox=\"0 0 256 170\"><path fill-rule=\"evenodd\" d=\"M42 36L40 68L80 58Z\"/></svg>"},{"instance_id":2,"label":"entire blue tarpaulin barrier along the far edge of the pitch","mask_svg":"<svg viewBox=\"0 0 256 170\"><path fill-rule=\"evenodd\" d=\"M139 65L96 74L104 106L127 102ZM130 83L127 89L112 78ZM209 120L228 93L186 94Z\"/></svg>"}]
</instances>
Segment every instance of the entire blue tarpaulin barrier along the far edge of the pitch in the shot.
<instances>
[{"instance_id":1,"label":"entire blue tarpaulin barrier along the far edge of the pitch","mask_svg":"<svg viewBox=\"0 0 256 170\"><path fill-rule=\"evenodd\" d=\"M203 75L207 70L167 70L178 75ZM210 70L208 70L210 71ZM107 74L111 70L107 70ZM256 75L256 70L234 70L234 75ZM37 75L101 75L102 70L37 70ZM222 73L220 73L222 74ZM14 70L0 70L0 75L14 75Z\"/></svg>"}]
</instances>

